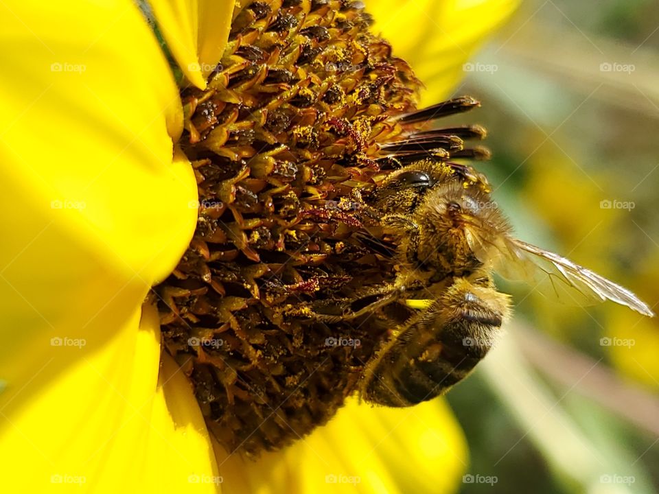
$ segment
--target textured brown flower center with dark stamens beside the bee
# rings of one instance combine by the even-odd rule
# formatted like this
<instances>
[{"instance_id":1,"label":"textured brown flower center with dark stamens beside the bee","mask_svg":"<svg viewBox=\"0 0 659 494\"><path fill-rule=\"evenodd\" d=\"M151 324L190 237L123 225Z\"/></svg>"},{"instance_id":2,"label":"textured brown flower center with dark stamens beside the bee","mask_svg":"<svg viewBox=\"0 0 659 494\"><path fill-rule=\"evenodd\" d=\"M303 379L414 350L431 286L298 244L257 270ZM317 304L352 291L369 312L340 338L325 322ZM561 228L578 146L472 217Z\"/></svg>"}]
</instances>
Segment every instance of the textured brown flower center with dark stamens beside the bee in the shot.
<instances>
[{"instance_id":1,"label":"textured brown flower center with dark stamens beside the bee","mask_svg":"<svg viewBox=\"0 0 659 494\"><path fill-rule=\"evenodd\" d=\"M382 245L359 236L369 194L419 153L459 156L460 137L482 133L409 139L419 123L476 102L415 113L419 82L369 32L360 3L278 5L242 9L207 89L182 92L198 222L154 289L165 349L192 381L209 430L248 454L331 418L392 323L410 314L401 305L386 317L310 317L395 277Z\"/></svg>"}]
</instances>

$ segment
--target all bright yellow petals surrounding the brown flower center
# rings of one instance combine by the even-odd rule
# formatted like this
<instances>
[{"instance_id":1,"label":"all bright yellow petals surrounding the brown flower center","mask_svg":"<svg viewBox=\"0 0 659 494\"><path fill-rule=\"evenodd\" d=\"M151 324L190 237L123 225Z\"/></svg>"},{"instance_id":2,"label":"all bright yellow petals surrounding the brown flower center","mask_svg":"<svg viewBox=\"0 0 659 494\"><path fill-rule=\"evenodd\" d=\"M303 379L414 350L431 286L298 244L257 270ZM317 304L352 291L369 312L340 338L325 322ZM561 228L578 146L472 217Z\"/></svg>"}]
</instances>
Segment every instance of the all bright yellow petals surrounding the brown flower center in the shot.
<instances>
[{"instance_id":1,"label":"all bright yellow petals surrounding the brown flower center","mask_svg":"<svg viewBox=\"0 0 659 494\"><path fill-rule=\"evenodd\" d=\"M284 5L300 3L327 2ZM259 20L248 4L0 4L7 492L450 492L459 483L464 440L441 401L389 410L348 400L325 427L251 460L209 434L189 376L162 351L171 306L148 295L180 268L201 214L191 105L222 77L231 32ZM513 2L391 5L371 5L373 29L401 40L397 54L432 60L419 73L437 100ZM397 34L415 22L432 28Z\"/></svg>"}]
</instances>

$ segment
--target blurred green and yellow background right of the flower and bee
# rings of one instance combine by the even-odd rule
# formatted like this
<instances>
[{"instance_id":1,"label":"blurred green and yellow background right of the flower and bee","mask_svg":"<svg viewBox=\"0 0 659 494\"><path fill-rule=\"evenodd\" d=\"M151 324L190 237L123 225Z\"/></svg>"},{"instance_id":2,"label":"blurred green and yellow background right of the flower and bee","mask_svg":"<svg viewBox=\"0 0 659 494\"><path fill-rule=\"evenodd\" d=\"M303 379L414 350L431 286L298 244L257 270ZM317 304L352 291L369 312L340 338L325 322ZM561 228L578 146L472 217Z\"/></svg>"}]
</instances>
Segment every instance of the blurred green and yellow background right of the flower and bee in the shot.
<instances>
[{"instance_id":1,"label":"blurred green and yellow background right of the flower and bee","mask_svg":"<svg viewBox=\"0 0 659 494\"><path fill-rule=\"evenodd\" d=\"M463 70L518 237L659 307L659 4L526 0ZM444 122L442 122L444 124ZM507 335L448 401L461 492L659 493L659 322L500 281Z\"/></svg>"}]
</instances>

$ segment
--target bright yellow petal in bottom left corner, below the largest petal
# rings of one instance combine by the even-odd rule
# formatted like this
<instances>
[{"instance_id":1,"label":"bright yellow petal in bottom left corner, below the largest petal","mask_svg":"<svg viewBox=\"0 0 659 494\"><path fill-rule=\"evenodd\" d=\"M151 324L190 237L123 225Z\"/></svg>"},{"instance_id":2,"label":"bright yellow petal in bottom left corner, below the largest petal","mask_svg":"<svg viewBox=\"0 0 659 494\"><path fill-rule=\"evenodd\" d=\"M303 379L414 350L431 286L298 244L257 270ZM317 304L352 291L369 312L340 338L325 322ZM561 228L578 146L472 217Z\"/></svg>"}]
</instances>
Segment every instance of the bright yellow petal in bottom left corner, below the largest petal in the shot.
<instances>
[{"instance_id":1,"label":"bright yellow petal in bottom left corner, below the largest petal","mask_svg":"<svg viewBox=\"0 0 659 494\"><path fill-rule=\"evenodd\" d=\"M11 451L3 471L12 472L3 479L6 492L217 491L212 447L189 383L170 359L158 375L158 315L150 307L141 321L140 314L100 346L86 340L54 347L20 390L30 399L20 406L5 401L0 443ZM62 361L69 364L62 368Z\"/></svg>"}]
</instances>

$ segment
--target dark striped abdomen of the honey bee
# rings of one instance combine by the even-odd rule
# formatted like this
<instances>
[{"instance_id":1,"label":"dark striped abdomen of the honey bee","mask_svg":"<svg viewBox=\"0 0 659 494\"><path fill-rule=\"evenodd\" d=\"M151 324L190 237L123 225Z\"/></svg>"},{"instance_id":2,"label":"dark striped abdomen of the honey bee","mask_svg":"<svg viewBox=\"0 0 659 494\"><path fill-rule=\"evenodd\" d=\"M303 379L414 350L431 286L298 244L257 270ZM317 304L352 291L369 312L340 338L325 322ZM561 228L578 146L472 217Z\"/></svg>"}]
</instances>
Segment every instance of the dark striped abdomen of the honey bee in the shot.
<instances>
[{"instance_id":1,"label":"dark striped abdomen of the honey bee","mask_svg":"<svg viewBox=\"0 0 659 494\"><path fill-rule=\"evenodd\" d=\"M442 395L493 346L509 297L458 278L384 343L364 372L360 395L380 405L411 406Z\"/></svg>"}]
</instances>

